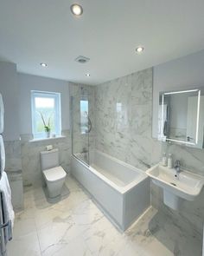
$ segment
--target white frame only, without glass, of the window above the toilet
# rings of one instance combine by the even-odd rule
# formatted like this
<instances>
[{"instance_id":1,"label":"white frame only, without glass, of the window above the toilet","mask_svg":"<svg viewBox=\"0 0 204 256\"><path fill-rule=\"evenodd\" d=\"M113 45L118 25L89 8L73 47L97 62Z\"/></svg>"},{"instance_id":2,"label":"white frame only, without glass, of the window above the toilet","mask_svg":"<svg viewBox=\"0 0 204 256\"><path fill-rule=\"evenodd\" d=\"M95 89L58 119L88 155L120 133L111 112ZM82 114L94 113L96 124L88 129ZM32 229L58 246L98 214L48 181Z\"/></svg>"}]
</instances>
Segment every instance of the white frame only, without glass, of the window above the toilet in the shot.
<instances>
[{"instance_id":1,"label":"white frame only, without glass, of the window above the toilet","mask_svg":"<svg viewBox=\"0 0 204 256\"><path fill-rule=\"evenodd\" d=\"M34 139L46 138L45 132L36 131L36 120L35 120L35 98L52 98L54 99L54 135L61 136L61 93L31 90L31 118L32 118L32 134ZM51 131L52 133L52 131Z\"/></svg>"}]
</instances>

